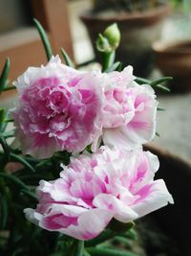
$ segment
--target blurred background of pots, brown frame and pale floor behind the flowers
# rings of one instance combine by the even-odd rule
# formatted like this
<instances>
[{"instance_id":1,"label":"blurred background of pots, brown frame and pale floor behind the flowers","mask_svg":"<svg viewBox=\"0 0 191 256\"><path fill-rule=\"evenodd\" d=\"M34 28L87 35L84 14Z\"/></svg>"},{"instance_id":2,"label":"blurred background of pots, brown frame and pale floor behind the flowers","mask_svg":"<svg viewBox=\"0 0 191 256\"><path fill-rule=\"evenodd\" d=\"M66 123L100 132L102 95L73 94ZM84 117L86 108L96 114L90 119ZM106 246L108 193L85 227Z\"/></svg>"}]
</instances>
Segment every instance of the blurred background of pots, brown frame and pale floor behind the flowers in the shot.
<instances>
[{"instance_id":1,"label":"blurred background of pots, brown frame and pale floor behind the flowers","mask_svg":"<svg viewBox=\"0 0 191 256\"><path fill-rule=\"evenodd\" d=\"M171 93L159 93L158 132L152 145L191 163L191 0L0 0L0 69L11 58L10 80L46 63L32 18L46 29L54 54L63 47L77 65L97 67L98 33L114 22L121 31L117 60L148 79L172 76ZM13 105L16 92L0 96Z\"/></svg>"}]
</instances>

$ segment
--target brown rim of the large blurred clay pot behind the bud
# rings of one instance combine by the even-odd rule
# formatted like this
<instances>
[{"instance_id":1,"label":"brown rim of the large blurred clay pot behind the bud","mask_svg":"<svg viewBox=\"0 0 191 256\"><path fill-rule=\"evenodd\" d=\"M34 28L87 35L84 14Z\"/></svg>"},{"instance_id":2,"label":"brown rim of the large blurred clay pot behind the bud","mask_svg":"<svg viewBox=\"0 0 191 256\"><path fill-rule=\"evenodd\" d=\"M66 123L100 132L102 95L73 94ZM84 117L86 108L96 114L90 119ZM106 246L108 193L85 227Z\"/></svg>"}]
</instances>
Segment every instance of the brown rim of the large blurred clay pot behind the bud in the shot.
<instances>
[{"instance_id":1,"label":"brown rim of the large blurred clay pot behind the bud","mask_svg":"<svg viewBox=\"0 0 191 256\"><path fill-rule=\"evenodd\" d=\"M114 15L99 15L93 13L91 10L83 12L80 14L80 18L82 21L97 21L97 20L102 20L105 22L122 22L122 21L142 21L142 20L150 20L150 19L163 19L164 16L169 14L172 11L172 6L169 3L163 4L157 8L154 8L149 11L145 12L134 12L134 13L129 13L129 12L118 12L117 14Z\"/></svg>"}]
</instances>

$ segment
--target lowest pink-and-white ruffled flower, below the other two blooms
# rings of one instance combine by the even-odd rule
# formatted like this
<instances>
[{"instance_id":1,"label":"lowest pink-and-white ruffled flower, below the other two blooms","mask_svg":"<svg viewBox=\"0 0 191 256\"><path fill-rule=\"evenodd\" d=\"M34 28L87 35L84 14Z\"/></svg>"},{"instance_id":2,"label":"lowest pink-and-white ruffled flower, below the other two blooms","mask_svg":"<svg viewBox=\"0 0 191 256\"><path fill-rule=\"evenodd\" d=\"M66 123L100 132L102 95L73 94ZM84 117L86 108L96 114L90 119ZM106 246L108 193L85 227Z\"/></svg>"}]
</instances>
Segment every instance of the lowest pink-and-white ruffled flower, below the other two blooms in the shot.
<instances>
[{"instance_id":1,"label":"lowest pink-and-white ruffled flower, below the other two blooms","mask_svg":"<svg viewBox=\"0 0 191 256\"><path fill-rule=\"evenodd\" d=\"M90 240L108 223L136 220L173 203L162 179L154 180L158 157L149 151L122 152L102 147L71 158L60 178L40 181L37 208L26 217L50 231Z\"/></svg>"}]
</instances>

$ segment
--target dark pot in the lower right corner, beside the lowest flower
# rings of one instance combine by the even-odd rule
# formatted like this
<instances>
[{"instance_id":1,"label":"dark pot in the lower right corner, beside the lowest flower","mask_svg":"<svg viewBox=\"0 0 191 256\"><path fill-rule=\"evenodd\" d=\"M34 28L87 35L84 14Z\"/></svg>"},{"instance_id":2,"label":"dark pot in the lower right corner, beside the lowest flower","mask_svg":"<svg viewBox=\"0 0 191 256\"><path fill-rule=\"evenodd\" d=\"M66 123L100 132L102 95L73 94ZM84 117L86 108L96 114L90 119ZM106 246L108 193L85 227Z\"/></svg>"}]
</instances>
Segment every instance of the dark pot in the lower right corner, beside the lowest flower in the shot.
<instances>
[{"instance_id":1,"label":"dark pot in the lower right corner, beside the lowest flower","mask_svg":"<svg viewBox=\"0 0 191 256\"><path fill-rule=\"evenodd\" d=\"M164 179L174 198L174 204L169 204L141 220L146 221L148 227L143 237L147 255L190 256L191 165L178 155L160 148L149 146L146 147L146 150L158 155L160 166L156 178ZM153 221L159 227L157 237L152 235L155 231L155 226L152 225Z\"/></svg>"}]
</instances>

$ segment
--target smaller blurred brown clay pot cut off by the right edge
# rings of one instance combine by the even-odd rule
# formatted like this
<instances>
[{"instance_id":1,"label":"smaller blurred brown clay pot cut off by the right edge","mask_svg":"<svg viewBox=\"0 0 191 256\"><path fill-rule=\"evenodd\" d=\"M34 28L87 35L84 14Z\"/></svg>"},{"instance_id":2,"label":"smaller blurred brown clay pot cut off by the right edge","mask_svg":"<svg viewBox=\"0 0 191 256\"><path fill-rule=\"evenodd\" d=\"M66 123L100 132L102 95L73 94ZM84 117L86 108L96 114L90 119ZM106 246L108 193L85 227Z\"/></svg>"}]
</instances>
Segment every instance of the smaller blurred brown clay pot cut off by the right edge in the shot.
<instances>
[{"instance_id":1,"label":"smaller blurred brown clay pot cut off by the right edge","mask_svg":"<svg viewBox=\"0 0 191 256\"><path fill-rule=\"evenodd\" d=\"M173 92L191 90L191 41L179 43L156 42L153 45L156 63L164 76L171 76Z\"/></svg>"}]
</instances>

